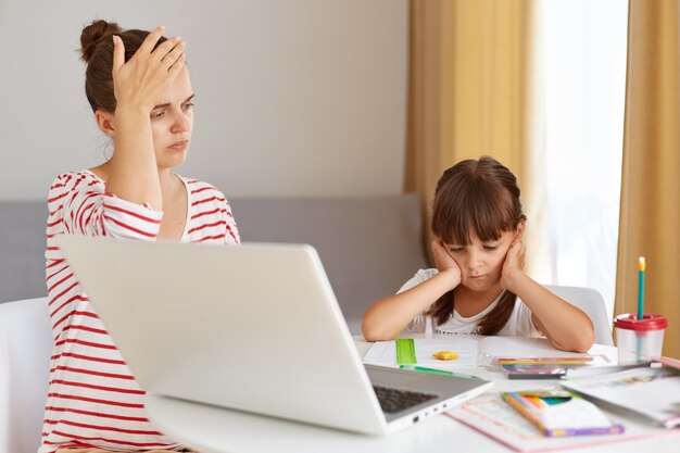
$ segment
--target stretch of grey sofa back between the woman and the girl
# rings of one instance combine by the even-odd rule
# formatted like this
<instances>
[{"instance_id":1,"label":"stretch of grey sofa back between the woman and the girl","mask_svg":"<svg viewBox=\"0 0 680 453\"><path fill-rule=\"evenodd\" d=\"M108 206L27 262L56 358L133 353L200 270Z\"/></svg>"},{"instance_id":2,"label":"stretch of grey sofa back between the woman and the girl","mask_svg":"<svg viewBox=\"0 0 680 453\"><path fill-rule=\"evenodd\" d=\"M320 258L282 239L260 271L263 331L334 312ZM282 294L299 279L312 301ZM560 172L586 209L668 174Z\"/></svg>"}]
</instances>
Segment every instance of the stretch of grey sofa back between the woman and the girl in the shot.
<instances>
[{"instance_id":1,"label":"stretch of grey sofa back between the woman and the girl","mask_svg":"<svg viewBox=\"0 0 680 453\"><path fill-rule=\"evenodd\" d=\"M395 293L426 265L415 194L235 199L231 209L241 241L316 248L353 334L372 302Z\"/></svg>"}]
</instances>

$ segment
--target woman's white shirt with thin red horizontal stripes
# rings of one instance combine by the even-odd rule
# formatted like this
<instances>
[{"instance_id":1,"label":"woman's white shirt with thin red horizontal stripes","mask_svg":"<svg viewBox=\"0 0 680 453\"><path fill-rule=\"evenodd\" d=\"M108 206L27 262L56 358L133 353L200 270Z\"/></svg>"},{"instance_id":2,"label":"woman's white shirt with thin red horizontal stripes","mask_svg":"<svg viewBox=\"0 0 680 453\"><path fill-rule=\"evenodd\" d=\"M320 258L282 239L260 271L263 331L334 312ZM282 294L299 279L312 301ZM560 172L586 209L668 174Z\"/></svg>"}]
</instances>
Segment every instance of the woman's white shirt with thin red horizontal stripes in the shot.
<instances>
[{"instance_id":1,"label":"woman's white shirt with thin red horizontal stripes","mask_svg":"<svg viewBox=\"0 0 680 453\"><path fill-rule=\"evenodd\" d=\"M239 243L224 194L209 184L181 180L188 216L180 241ZM153 241L163 214L106 193L104 181L89 171L58 176L48 207L46 280L54 350L39 453L60 448L176 449L147 418L144 391L53 239L77 234Z\"/></svg>"}]
</instances>

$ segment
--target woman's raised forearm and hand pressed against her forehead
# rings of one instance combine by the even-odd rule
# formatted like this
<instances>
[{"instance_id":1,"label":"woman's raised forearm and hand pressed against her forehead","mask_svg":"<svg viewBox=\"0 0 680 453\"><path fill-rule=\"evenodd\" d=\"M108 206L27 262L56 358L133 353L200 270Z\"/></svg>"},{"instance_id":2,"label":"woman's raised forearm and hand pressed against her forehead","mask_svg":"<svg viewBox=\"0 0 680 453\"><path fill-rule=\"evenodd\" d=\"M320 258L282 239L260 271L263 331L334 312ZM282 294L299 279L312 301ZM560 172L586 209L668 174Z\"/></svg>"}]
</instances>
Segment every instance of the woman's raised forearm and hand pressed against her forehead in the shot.
<instances>
[{"instance_id":1,"label":"woman's raised forearm and hand pressed against her forehead","mask_svg":"<svg viewBox=\"0 0 680 453\"><path fill-rule=\"evenodd\" d=\"M113 38L115 148L106 179L108 192L134 203L149 203L158 211L162 210L163 198L150 115L185 65L185 45L178 37L153 49L163 30L156 27L151 32L127 63L123 40Z\"/></svg>"}]
</instances>

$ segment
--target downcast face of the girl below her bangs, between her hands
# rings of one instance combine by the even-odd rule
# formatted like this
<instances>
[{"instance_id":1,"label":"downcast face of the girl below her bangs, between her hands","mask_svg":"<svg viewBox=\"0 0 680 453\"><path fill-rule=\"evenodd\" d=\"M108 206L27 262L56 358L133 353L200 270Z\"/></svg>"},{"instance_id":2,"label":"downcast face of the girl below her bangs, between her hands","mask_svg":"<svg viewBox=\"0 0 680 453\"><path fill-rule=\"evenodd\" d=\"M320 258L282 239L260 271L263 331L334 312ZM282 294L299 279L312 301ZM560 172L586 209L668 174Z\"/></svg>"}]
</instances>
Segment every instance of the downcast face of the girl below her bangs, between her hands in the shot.
<instances>
[{"instance_id":1,"label":"downcast face of the girl below her bangs, between her hands","mask_svg":"<svg viewBox=\"0 0 680 453\"><path fill-rule=\"evenodd\" d=\"M467 246L446 244L449 254L461 268L461 285L474 291L488 290L501 280L505 255L521 231L503 231L498 240L482 242L473 231Z\"/></svg>"}]
</instances>

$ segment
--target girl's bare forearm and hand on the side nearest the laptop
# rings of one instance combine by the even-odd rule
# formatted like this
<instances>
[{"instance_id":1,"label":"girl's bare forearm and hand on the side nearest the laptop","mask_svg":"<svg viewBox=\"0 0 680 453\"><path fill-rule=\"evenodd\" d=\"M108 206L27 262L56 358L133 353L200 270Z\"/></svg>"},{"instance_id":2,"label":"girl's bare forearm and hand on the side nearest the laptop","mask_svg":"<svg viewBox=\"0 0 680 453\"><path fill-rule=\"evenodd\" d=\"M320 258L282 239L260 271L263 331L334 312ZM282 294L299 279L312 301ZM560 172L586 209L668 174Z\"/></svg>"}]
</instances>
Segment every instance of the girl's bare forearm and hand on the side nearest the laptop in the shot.
<instances>
[{"instance_id":1,"label":"girl's bare forearm and hand on the side nearest the laptop","mask_svg":"<svg viewBox=\"0 0 680 453\"><path fill-rule=\"evenodd\" d=\"M362 320L362 334L367 341L396 337L418 314L461 282L461 269L440 240L432 241L432 252L439 273L406 291L378 300L370 305Z\"/></svg>"}]
</instances>

